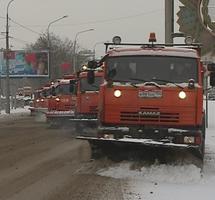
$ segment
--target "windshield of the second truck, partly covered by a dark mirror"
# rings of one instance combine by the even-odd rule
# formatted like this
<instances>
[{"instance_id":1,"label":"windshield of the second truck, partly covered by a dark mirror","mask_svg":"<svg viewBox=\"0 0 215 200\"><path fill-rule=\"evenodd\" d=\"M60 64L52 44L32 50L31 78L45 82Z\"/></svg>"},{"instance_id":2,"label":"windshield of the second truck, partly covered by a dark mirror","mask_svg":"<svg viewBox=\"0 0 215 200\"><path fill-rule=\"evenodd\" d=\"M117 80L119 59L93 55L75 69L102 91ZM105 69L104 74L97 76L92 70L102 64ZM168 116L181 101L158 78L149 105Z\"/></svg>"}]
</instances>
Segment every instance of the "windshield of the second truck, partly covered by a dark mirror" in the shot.
<instances>
[{"instance_id":1,"label":"windshield of the second truck, partly covered by a dark mirror","mask_svg":"<svg viewBox=\"0 0 215 200\"><path fill-rule=\"evenodd\" d=\"M89 84L87 78L82 78L80 82L81 92L85 91L99 91L99 86L103 81L103 77L95 77L95 82Z\"/></svg>"}]
</instances>

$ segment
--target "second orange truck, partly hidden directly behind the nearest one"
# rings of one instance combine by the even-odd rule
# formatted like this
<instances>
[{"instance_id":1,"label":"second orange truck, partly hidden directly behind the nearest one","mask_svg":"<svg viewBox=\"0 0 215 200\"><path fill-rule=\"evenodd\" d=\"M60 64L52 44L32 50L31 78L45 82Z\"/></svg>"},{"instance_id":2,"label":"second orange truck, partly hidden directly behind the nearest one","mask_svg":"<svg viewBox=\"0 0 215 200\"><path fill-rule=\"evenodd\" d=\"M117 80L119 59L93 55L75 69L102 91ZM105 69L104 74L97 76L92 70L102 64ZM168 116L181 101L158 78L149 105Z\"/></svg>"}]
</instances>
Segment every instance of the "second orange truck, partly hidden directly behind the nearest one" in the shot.
<instances>
[{"instance_id":1,"label":"second orange truck, partly hidden directly behind the nearest one","mask_svg":"<svg viewBox=\"0 0 215 200\"><path fill-rule=\"evenodd\" d=\"M86 134L88 128L97 128L99 89L104 82L103 69L94 72L93 80L92 84L88 82L87 70L81 71L77 78L75 115L70 121L75 124L78 134Z\"/></svg>"}]
</instances>

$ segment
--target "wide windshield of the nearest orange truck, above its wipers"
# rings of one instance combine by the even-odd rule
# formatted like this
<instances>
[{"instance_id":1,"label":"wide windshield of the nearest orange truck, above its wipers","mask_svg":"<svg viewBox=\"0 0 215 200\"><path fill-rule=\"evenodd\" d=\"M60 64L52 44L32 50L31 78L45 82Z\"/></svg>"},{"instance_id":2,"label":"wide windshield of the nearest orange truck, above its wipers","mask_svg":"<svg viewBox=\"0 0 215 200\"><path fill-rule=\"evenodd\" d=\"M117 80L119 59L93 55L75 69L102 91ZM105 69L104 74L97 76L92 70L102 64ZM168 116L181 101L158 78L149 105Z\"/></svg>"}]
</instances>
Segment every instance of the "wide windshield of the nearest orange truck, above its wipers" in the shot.
<instances>
[{"instance_id":1,"label":"wide windshield of the nearest orange truck, above its wipers","mask_svg":"<svg viewBox=\"0 0 215 200\"><path fill-rule=\"evenodd\" d=\"M136 80L153 81L158 84L167 84L168 81L169 83L187 83L189 79L198 82L198 65L195 58L185 57L109 57L107 77L113 81L133 83L136 83Z\"/></svg>"}]
</instances>

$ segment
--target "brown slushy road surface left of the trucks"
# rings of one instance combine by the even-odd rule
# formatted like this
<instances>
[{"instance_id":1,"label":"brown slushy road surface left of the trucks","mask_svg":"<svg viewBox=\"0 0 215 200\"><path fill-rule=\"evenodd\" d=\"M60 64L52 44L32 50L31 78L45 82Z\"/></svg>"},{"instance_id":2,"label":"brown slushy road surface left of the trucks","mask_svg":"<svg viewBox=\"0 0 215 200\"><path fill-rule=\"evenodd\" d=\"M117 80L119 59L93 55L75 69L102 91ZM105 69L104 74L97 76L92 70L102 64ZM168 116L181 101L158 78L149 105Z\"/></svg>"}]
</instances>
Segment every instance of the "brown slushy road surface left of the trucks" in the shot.
<instances>
[{"instance_id":1,"label":"brown slushy road surface left of the trucks","mask_svg":"<svg viewBox=\"0 0 215 200\"><path fill-rule=\"evenodd\" d=\"M123 181L96 174L110 164L91 160L72 129L50 129L30 116L0 120L1 200L121 200Z\"/></svg>"}]
</instances>

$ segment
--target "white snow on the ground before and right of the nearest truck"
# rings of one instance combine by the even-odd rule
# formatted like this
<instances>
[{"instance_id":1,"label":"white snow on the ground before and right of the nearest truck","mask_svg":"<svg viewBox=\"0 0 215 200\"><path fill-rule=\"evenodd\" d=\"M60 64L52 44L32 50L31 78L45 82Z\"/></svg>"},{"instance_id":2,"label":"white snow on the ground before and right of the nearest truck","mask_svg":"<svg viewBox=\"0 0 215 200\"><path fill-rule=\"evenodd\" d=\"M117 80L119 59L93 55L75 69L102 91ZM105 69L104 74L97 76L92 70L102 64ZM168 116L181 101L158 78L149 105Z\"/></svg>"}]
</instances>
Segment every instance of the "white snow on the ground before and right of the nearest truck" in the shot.
<instances>
[{"instance_id":1,"label":"white snow on the ground before and right of the nearest truck","mask_svg":"<svg viewBox=\"0 0 215 200\"><path fill-rule=\"evenodd\" d=\"M125 162L98 171L98 175L125 180L126 200L213 200L215 196L215 101L209 102L209 127L203 174L194 165L152 165L139 170Z\"/></svg>"}]
</instances>

